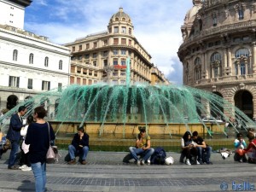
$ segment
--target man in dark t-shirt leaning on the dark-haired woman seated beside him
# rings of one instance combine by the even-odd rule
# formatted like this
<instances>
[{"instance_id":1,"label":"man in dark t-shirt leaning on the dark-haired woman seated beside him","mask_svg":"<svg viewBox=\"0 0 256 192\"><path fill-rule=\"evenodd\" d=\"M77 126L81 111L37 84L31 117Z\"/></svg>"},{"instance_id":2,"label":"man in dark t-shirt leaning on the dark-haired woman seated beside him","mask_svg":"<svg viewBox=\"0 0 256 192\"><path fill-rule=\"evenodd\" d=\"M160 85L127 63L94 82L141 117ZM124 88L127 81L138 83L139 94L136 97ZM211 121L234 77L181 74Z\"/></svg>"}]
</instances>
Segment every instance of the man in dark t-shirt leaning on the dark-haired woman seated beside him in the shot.
<instances>
[{"instance_id":1,"label":"man in dark t-shirt leaning on the dark-haired woman seated beside him","mask_svg":"<svg viewBox=\"0 0 256 192\"><path fill-rule=\"evenodd\" d=\"M192 139L193 139L193 142L196 143L198 162L201 165L203 163L206 163L207 165L212 165L212 162L210 161L211 153L212 153L212 147L208 146L204 142L203 138L198 136L197 131L194 131L192 133Z\"/></svg>"}]
</instances>

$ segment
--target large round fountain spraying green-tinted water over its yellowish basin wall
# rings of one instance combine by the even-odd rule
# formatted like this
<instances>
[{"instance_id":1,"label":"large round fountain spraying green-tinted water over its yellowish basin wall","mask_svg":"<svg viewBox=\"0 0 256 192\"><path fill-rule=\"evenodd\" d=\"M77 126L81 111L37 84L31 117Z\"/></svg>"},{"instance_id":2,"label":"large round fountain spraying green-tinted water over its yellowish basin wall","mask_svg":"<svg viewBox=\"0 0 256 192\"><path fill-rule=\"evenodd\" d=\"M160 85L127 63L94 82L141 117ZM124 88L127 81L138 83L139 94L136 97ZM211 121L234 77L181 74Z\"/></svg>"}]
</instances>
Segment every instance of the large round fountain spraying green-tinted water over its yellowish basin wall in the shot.
<instances>
[{"instance_id":1,"label":"large round fountain spraying green-tinted water over its yellowish basin wall","mask_svg":"<svg viewBox=\"0 0 256 192\"><path fill-rule=\"evenodd\" d=\"M86 131L96 134L96 137L116 137L120 133L120 139L134 138L139 125L145 125L154 138L160 138L162 134L169 139L180 137L184 131L194 130L209 137L216 137L214 134L229 137L255 125L241 110L205 90L176 85L131 85L129 65L128 58L125 85L73 84L61 91L49 90L20 103L1 117L0 122L9 119L20 105L28 108L27 114L43 105L49 111L48 119L55 125L57 137L61 132L73 134L76 131L74 125L84 125ZM229 122L231 128L227 129L224 122L217 119L206 122L202 116L220 117ZM230 117L236 118L240 129ZM2 126L7 124L8 121L5 121Z\"/></svg>"}]
</instances>

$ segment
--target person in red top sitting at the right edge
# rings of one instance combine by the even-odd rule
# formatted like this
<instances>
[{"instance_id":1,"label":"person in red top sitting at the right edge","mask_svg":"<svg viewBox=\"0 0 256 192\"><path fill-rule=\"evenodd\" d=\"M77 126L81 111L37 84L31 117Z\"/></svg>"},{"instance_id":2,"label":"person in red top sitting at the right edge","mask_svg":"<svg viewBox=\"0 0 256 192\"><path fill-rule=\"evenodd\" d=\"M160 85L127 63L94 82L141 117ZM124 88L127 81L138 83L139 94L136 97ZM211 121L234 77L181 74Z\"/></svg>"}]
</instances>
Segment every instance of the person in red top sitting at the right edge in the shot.
<instances>
[{"instance_id":1,"label":"person in red top sitting at the right edge","mask_svg":"<svg viewBox=\"0 0 256 192\"><path fill-rule=\"evenodd\" d=\"M248 132L247 137L250 143L247 148L243 149L243 152L248 156L248 163L256 163L256 139L252 132Z\"/></svg>"}]
</instances>

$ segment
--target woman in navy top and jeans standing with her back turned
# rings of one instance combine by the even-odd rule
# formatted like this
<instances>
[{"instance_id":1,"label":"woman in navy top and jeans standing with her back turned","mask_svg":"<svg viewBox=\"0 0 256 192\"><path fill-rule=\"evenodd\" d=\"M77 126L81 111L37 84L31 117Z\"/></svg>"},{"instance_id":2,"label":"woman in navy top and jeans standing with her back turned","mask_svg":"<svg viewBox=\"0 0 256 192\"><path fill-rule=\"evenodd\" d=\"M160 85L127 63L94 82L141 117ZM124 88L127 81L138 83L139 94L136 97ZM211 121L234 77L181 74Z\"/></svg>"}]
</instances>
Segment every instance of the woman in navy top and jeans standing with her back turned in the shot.
<instances>
[{"instance_id":1,"label":"woman in navy top and jeans standing with her back turned","mask_svg":"<svg viewBox=\"0 0 256 192\"><path fill-rule=\"evenodd\" d=\"M46 154L49 149L49 141L55 140L54 131L48 122L44 120L46 110L40 106L34 109L33 118L36 122L27 128L25 143L30 145L30 162L35 177L36 192L43 192L46 184Z\"/></svg>"}]
</instances>

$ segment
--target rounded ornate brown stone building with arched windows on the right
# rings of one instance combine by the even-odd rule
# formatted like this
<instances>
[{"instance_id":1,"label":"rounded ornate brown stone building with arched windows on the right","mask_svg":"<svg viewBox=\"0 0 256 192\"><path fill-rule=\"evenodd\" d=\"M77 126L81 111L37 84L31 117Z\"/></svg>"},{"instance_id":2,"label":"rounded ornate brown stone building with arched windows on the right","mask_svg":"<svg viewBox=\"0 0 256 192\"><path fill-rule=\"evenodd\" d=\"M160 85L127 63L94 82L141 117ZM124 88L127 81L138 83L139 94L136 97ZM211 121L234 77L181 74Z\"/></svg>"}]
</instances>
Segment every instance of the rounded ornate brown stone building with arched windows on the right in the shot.
<instances>
[{"instance_id":1,"label":"rounded ornate brown stone building with arched windows on the right","mask_svg":"<svg viewBox=\"0 0 256 192\"><path fill-rule=\"evenodd\" d=\"M255 118L256 1L194 0L193 5L177 52L183 84L222 96Z\"/></svg>"}]
</instances>

